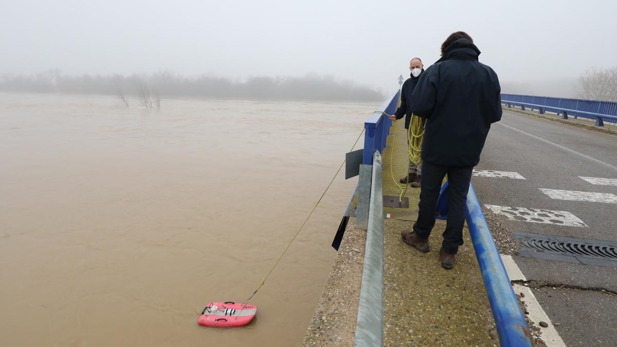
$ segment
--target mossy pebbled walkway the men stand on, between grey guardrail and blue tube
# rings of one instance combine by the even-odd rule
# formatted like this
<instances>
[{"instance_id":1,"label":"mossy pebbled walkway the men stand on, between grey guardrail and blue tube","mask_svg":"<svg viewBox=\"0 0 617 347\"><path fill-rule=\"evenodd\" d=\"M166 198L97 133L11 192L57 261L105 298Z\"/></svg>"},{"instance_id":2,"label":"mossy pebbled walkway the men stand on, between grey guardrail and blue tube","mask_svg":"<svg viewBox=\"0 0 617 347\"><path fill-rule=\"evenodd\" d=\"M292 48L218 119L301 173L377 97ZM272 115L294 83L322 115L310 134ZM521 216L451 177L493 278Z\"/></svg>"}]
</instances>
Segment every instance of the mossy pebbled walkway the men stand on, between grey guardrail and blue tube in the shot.
<instances>
[{"instance_id":1,"label":"mossy pebbled walkway the men stand on, between grey guardrail and blue tube","mask_svg":"<svg viewBox=\"0 0 617 347\"><path fill-rule=\"evenodd\" d=\"M398 196L391 172L395 180L407 172L404 122L395 122L391 134L383 156L384 195ZM439 263L445 221L437 221L429 253L401 240L401 230L410 230L417 217L419 195L419 188L408 188L409 208L384 207L394 217L384 222L384 345L499 345L469 233L463 232L465 245L452 270Z\"/></svg>"}]
</instances>

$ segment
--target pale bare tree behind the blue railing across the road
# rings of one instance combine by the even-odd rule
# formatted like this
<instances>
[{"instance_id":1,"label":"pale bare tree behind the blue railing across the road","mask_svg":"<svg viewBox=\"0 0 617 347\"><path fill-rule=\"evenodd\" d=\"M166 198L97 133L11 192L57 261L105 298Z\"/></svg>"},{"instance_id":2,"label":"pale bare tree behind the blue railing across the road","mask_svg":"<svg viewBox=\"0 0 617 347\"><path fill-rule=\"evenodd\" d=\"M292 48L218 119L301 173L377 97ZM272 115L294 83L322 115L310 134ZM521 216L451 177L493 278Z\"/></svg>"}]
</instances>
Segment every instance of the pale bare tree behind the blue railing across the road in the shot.
<instances>
[{"instance_id":1,"label":"pale bare tree behind the blue railing across the road","mask_svg":"<svg viewBox=\"0 0 617 347\"><path fill-rule=\"evenodd\" d=\"M583 99L617 101L617 66L584 72L578 79L578 94Z\"/></svg>"}]
</instances>

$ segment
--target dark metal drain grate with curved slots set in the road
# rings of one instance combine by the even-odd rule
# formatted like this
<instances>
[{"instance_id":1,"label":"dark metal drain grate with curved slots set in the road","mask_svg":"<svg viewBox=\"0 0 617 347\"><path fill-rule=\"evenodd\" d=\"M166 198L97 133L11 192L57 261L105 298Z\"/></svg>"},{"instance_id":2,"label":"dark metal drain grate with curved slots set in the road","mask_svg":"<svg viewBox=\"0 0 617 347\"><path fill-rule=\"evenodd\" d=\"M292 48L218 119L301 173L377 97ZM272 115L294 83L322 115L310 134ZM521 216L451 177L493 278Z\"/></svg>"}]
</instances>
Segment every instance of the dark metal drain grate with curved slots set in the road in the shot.
<instances>
[{"instance_id":1,"label":"dark metal drain grate with curved slots set in the road","mask_svg":"<svg viewBox=\"0 0 617 347\"><path fill-rule=\"evenodd\" d=\"M608 241L514 233L519 255L576 264L617 267L617 244Z\"/></svg>"}]
</instances>

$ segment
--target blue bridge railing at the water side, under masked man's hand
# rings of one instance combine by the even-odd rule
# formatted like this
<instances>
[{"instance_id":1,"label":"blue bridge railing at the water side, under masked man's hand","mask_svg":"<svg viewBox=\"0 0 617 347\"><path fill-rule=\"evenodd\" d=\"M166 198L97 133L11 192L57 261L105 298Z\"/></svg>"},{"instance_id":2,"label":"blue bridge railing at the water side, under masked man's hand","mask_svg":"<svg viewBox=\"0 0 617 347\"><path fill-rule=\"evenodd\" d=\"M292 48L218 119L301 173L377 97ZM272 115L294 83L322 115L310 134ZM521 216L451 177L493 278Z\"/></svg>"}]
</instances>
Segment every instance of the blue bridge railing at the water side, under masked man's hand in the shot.
<instances>
[{"instance_id":1,"label":"blue bridge railing at the water side, under masked man's hand","mask_svg":"<svg viewBox=\"0 0 617 347\"><path fill-rule=\"evenodd\" d=\"M396 105L399 102L400 90L397 91L391 100L384 101L378 111L373 112L366 122L364 122L364 152L362 154L362 164L373 164L373 152L375 149L383 153L386 147L387 135L390 132L392 120L381 112L394 114Z\"/></svg>"}]
</instances>

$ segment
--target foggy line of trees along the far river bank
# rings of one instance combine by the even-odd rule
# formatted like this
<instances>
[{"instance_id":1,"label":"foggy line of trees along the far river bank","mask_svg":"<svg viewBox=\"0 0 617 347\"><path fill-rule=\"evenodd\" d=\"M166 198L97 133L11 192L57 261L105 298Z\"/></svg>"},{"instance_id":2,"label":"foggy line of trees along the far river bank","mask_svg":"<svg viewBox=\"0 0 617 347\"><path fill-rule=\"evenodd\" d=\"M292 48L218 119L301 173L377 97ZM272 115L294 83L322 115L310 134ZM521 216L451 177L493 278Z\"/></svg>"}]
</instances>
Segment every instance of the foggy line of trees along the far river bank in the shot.
<instances>
[{"instance_id":1,"label":"foggy line of trees along the far river bank","mask_svg":"<svg viewBox=\"0 0 617 347\"><path fill-rule=\"evenodd\" d=\"M0 92L138 96L150 90L160 98L248 98L273 100L383 101L384 94L329 75L304 77L184 77L172 72L125 75L62 75L59 70L31 75L0 75Z\"/></svg>"}]
</instances>

